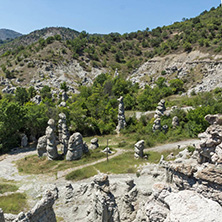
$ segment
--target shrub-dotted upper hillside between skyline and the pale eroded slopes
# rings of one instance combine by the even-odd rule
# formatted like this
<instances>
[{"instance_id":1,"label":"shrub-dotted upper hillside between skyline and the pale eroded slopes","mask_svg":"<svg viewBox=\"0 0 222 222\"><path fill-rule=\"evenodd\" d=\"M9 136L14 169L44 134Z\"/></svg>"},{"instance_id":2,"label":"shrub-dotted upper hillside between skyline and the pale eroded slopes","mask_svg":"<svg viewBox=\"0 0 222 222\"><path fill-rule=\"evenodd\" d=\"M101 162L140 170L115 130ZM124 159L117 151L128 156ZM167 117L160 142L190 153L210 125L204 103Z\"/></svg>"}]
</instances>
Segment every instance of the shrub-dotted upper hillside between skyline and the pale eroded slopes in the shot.
<instances>
[{"instance_id":1,"label":"shrub-dotted upper hillside between skyline and the pale eroded slopes","mask_svg":"<svg viewBox=\"0 0 222 222\"><path fill-rule=\"evenodd\" d=\"M149 25L149 24L147 24ZM108 35L91 35L67 28L45 28L0 47L0 75L17 70L16 77L36 72L44 61L60 68L78 61L86 72L92 68L115 70L129 75L155 56L199 50L222 51L222 8L212 8L191 19L153 30ZM63 69L63 68L61 68ZM23 77L26 78L26 77Z\"/></svg>"}]
</instances>

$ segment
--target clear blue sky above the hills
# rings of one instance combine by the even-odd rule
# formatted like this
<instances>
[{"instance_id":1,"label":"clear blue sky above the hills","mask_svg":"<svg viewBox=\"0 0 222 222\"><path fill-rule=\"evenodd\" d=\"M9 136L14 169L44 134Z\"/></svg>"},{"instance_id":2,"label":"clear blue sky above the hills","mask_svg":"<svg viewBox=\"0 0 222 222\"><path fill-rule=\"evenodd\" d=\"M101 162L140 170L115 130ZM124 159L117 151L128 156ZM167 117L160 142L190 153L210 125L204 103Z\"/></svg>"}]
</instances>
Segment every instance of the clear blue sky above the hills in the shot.
<instances>
[{"instance_id":1,"label":"clear blue sky above the hills","mask_svg":"<svg viewBox=\"0 0 222 222\"><path fill-rule=\"evenodd\" d=\"M0 28L28 34L62 26L89 33L170 25L217 7L220 0L0 0Z\"/></svg>"}]
</instances>

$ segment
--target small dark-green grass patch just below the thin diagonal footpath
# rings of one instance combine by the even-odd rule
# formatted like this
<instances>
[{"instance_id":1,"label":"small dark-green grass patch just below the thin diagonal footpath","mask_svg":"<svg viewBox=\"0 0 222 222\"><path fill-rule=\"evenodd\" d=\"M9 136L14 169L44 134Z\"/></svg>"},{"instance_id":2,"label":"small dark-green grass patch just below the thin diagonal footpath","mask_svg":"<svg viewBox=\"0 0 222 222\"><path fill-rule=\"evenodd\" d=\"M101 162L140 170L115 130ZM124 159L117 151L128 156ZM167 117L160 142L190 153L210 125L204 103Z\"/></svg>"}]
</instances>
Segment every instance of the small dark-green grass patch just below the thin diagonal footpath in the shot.
<instances>
[{"instance_id":1,"label":"small dark-green grass patch just below the thin diagonal footpath","mask_svg":"<svg viewBox=\"0 0 222 222\"><path fill-rule=\"evenodd\" d=\"M66 180L83 180L95 176L97 173L97 170L92 166L84 167L67 174Z\"/></svg>"}]
</instances>

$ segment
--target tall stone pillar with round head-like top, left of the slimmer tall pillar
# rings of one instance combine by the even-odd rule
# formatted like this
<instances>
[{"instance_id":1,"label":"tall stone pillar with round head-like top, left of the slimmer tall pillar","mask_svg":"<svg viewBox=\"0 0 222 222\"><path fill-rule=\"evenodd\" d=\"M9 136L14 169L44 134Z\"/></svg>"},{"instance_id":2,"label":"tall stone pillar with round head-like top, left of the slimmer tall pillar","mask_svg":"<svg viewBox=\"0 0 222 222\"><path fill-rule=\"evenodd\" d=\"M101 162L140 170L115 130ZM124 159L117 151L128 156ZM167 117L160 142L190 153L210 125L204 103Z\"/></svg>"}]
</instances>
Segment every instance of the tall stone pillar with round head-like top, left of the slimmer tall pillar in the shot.
<instances>
[{"instance_id":1,"label":"tall stone pillar with round head-like top, left of the slimmer tall pillar","mask_svg":"<svg viewBox=\"0 0 222 222\"><path fill-rule=\"evenodd\" d=\"M56 136L55 136L55 121L50 119L48 121L48 127L46 128L46 138L47 138L47 156L49 160L55 160L58 158L58 151L56 147Z\"/></svg>"}]
</instances>

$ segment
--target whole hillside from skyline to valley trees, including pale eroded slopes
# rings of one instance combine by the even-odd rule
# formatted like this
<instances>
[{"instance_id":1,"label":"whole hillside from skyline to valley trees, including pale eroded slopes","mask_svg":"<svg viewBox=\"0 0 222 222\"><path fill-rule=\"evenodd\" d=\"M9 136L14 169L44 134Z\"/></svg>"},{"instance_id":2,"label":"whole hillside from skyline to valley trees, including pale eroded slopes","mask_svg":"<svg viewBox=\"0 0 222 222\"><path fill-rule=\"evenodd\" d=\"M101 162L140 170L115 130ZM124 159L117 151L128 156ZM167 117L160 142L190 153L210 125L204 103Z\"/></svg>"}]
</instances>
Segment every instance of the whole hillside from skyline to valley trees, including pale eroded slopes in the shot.
<instances>
[{"instance_id":1,"label":"whole hillside from skyline to valley trees, including pale eroded slopes","mask_svg":"<svg viewBox=\"0 0 222 222\"><path fill-rule=\"evenodd\" d=\"M91 84L102 72L114 73L118 69L122 76L141 86L153 84L160 76L167 80L177 77L191 91L205 81L209 72L216 78L220 76L221 24L222 8L218 7L170 26L123 35L90 35L67 28L45 28L0 48L0 75L12 81L18 79L14 85L28 85L39 79L47 84L55 82L46 81L53 73L56 79L68 81L77 89L79 84ZM44 76L42 80L40 76ZM205 84L209 85L207 81ZM221 83L210 85L201 89L211 90Z\"/></svg>"}]
</instances>

